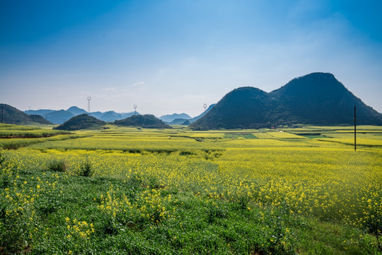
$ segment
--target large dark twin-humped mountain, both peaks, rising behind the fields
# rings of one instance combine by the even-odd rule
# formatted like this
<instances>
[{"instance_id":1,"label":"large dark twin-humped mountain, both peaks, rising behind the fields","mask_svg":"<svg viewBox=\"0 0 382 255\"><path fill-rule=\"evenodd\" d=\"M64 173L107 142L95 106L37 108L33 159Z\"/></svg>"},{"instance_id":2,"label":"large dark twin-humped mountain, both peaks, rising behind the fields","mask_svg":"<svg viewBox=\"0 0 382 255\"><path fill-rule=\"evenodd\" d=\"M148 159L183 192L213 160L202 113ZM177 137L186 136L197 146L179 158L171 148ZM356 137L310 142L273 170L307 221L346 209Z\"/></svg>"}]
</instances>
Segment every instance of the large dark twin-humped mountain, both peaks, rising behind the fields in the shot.
<instances>
[{"instance_id":1,"label":"large dark twin-humped mountain, both peaks, rising behind the fields","mask_svg":"<svg viewBox=\"0 0 382 255\"><path fill-rule=\"evenodd\" d=\"M313 73L289 81L270 93L253 87L234 89L190 127L263 128L308 123L382 125L382 114L366 106L332 74Z\"/></svg>"}]
</instances>

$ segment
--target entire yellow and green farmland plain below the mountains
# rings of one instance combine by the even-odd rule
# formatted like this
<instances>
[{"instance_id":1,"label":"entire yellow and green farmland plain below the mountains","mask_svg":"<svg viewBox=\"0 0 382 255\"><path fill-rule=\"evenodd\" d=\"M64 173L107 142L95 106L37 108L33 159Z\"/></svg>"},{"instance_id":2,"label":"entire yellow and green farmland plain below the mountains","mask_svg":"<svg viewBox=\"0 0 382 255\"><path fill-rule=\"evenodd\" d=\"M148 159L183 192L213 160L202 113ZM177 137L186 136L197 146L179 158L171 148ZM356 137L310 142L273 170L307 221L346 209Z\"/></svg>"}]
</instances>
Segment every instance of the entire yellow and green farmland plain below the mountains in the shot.
<instances>
[{"instance_id":1,"label":"entire yellow and green farmland plain below the mountains","mask_svg":"<svg viewBox=\"0 0 382 255\"><path fill-rule=\"evenodd\" d=\"M382 251L381 127L0 132L0 254Z\"/></svg>"}]
</instances>

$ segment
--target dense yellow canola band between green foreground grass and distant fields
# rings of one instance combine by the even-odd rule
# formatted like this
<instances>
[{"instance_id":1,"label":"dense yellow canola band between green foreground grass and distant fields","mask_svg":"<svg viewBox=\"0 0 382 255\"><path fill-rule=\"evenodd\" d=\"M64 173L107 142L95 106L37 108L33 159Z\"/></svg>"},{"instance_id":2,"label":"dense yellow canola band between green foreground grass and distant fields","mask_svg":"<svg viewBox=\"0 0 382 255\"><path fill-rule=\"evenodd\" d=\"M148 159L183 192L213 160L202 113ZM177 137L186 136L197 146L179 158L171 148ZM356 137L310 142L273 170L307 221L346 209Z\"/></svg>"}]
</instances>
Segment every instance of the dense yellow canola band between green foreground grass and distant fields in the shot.
<instances>
[{"instance_id":1,"label":"dense yellow canola band between green foreground grass and distant fields","mask_svg":"<svg viewBox=\"0 0 382 255\"><path fill-rule=\"evenodd\" d=\"M260 206L287 203L295 213L346 220L352 225L364 225L371 215L381 215L378 149L354 154L335 147L226 148L213 160L206 155L18 149L12 162L17 169L44 169L48 159L58 157L66 159L71 174L76 174L86 157L96 176L129 179L137 175L147 183L154 179L158 186L226 198L243 207L249 202ZM40 188L37 183L36 189ZM370 199L373 203L367 203Z\"/></svg>"}]
</instances>

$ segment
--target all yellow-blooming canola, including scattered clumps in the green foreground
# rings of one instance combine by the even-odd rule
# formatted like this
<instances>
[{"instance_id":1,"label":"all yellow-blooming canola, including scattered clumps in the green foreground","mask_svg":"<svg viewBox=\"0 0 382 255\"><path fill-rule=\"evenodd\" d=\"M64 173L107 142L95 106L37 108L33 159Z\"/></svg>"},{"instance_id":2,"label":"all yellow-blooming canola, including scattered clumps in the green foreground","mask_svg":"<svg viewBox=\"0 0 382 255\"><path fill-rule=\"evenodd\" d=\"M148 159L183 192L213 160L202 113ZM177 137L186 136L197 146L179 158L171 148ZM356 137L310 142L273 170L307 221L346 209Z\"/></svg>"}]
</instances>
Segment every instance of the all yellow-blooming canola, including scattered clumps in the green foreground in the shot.
<instances>
[{"instance_id":1,"label":"all yellow-blooming canola, including scattered clumps in the green foreground","mask_svg":"<svg viewBox=\"0 0 382 255\"><path fill-rule=\"evenodd\" d=\"M25 222L24 231L29 237L49 234L50 229L35 227L39 217L36 208L47 213L57 210L48 198L59 196L65 188L58 180L78 175L81 164L87 160L94 176L113 176L125 180L126 185L138 180L144 186L139 194L121 193L110 186L94 198L99 201L100 213L112 219L160 224L176 210L176 201L166 193L173 189L212 201L229 200L245 210L253 206L285 207L291 215L314 215L321 220L343 221L373 234L381 233L380 147L353 152L346 145L333 143L345 138L320 141L294 139L294 135L282 132L253 134L260 139L205 140L201 145L185 137L169 140L167 133L155 139L122 133L3 150L6 164L1 165L0 177L6 185L0 190L0 202L6 207L0 229L5 232L7 222ZM204 136L223 137L220 133ZM370 145L379 142L373 140ZM54 159L67 162L65 174L47 171ZM19 172L25 169L43 171L51 181L39 177L21 180ZM96 231L93 223L71 218L64 217L66 239L71 242L91 239Z\"/></svg>"}]
</instances>

